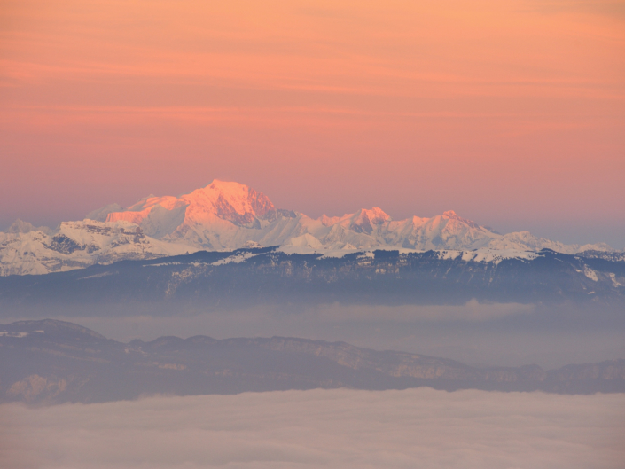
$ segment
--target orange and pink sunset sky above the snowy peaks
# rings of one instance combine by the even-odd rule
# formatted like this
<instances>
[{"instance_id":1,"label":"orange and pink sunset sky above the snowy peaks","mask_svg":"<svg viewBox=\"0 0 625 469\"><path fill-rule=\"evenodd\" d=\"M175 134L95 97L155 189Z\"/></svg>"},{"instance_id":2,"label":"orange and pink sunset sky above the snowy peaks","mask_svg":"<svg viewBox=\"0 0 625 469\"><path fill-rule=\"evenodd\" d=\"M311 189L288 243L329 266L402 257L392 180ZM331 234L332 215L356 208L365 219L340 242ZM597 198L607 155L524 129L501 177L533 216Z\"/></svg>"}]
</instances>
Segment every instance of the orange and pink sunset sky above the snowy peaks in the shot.
<instances>
[{"instance_id":1,"label":"orange and pink sunset sky above the snowy peaks","mask_svg":"<svg viewBox=\"0 0 625 469\"><path fill-rule=\"evenodd\" d=\"M625 2L2 2L0 229L214 178L625 248Z\"/></svg>"}]
</instances>

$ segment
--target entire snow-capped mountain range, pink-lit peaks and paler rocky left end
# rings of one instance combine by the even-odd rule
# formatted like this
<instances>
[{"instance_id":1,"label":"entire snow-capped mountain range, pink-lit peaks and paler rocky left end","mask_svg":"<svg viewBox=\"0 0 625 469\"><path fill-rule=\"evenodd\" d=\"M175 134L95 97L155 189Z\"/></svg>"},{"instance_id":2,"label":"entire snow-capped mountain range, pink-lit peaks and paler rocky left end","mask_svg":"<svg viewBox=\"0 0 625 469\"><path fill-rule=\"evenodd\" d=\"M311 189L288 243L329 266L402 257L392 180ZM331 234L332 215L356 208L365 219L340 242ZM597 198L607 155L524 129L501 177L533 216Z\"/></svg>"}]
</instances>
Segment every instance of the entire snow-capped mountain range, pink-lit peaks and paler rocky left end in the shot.
<instances>
[{"instance_id":1,"label":"entire snow-capped mountain range, pink-lit peaks and paler rocky left end","mask_svg":"<svg viewBox=\"0 0 625 469\"><path fill-rule=\"evenodd\" d=\"M613 250L605 244L564 245L528 231L502 235L452 210L395 221L374 207L313 219L277 209L262 192L244 184L215 180L180 197L149 196L128 208L103 207L82 221L60 223L57 230L18 220L0 232L0 275L254 246L327 255L397 248L488 253L473 259L525 257L544 248L566 254Z\"/></svg>"}]
</instances>

